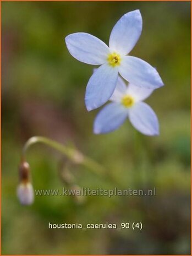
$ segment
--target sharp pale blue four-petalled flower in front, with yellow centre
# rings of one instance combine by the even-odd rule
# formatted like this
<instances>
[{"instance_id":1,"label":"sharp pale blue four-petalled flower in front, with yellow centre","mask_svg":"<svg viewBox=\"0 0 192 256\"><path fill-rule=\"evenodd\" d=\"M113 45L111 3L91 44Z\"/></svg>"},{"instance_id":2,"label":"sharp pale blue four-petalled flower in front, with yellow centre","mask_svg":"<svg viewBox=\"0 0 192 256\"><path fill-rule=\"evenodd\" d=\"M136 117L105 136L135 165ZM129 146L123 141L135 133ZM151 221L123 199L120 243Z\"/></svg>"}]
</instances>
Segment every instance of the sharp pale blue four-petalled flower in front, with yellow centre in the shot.
<instances>
[{"instance_id":1,"label":"sharp pale blue four-petalled flower in front, with yellow centre","mask_svg":"<svg viewBox=\"0 0 192 256\"><path fill-rule=\"evenodd\" d=\"M129 56L142 30L139 10L124 14L112 29L109 47L84 32L70 34L65 42L70 54L81 62L101 65L88 81L85 105L88 111L105 104L114 92L118 74L140 88L156 89L163 85L157 70L140 58Z\"/></svg>"}]
</instances>

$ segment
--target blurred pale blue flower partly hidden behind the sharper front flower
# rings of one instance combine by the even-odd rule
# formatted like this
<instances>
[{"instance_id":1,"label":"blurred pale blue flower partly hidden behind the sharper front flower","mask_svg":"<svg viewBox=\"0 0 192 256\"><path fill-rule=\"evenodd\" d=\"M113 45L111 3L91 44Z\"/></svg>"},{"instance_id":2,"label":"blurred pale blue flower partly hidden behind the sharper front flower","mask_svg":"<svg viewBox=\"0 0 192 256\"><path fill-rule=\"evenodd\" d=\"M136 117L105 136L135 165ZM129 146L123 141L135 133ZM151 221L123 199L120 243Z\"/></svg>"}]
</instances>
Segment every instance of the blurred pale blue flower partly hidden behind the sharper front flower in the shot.
<instances>
[{"instance_id":1,"label":"blurred pale blue flower partly hidden behind the sharper front flower","mask_svg":"<svg viewBox=\"0 0 192 256\"><path fill-rule=\"evenodd\" d=\"M94 122L94 133L108 133L116 130L125 119L142 134L156 136L159 134L158 119L152 108L142 100L152 93L153 89L139 88L134 84L125 84L118 77L116 89L111 96L111 103L98 112Z\"/></svg>"}]
</instances>

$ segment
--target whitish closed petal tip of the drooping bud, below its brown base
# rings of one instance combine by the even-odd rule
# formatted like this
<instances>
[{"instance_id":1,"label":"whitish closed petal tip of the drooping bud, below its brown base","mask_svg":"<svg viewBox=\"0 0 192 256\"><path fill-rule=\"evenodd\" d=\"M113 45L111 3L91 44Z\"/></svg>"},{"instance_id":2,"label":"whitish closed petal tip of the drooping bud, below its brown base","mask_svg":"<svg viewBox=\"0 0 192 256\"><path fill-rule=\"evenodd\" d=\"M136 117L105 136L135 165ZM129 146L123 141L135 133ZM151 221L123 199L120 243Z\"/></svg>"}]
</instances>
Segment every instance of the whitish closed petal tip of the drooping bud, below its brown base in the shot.
<instances>
[{"instance_id":1,"label":"whitish closed petal tip of the drooping bud, below its brown base","mask_svg":"<svg viewBox=\"0 0 192 256\"><path fill-rule=\"evenodd\" d=\"M34 202L34 189L30 182L21 182L17 189L17 196L21 204L30 205Z\"/></svg>"}]
</instances>

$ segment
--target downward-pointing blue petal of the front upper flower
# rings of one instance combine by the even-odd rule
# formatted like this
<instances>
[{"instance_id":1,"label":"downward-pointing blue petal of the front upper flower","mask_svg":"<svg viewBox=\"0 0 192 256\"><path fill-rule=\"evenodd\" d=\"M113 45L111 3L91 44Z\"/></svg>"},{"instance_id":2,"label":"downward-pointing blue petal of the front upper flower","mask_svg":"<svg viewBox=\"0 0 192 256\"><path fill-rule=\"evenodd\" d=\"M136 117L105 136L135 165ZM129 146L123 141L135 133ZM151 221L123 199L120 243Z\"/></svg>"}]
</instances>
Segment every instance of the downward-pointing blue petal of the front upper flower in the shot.
<instances>
[{"instance_id":1,"label":"downward-pointing blue petal of the front upper flower","mask_svg":"<svg viewBox=\"0 0 192 256\"><path fill-rule=\"evenodd\" d=\"M88 111L105 104L113 94L118 79L118 69L103 64L91 75L85 93Z\"/></svg>"}]
</instances>

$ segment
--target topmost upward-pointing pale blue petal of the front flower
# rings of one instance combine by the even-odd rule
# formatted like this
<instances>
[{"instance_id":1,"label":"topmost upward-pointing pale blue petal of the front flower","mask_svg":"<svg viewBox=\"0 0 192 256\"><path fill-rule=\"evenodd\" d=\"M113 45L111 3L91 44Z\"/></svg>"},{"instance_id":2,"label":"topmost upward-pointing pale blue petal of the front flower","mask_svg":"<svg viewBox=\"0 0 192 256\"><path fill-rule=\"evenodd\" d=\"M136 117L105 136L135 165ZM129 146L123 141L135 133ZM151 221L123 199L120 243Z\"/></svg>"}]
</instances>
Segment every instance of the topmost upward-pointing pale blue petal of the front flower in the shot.
<instances>
[{"instance_id":1,"label":"topmost upward-pointing pale blue petal of the front flower","mask_svg":"<svg viewBox=\"0 0 192 256\"><path fill-rule=\"evenodd\" d=\"M122 55L127 55L138 41L142 30L142 17L139 10L124 14L114 25L109 48Z\"/></svg>"}]
</instances>

